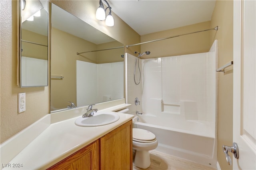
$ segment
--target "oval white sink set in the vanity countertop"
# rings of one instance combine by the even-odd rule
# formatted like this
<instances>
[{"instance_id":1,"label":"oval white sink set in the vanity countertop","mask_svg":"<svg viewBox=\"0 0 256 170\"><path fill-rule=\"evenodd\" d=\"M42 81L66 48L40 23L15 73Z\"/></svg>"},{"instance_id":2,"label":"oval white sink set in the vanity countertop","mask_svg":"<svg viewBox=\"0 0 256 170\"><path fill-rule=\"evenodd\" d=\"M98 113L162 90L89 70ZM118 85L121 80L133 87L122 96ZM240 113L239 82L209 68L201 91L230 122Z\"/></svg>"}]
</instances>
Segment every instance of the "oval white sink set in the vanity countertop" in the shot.
<instances>
[{"instance_id":1,"label":"oval white sink set in the vanity countertop","mask_svg":"<svg viewBox=\"0 0 256 170\"><path fill-rule=\"evenodd\" d=\"M117 114L107 112L107 113L97 113L93 116L83 118L82 116L77 118L75 124L77 126L102 126L106 124L111 124L119 120L119 116Z\"/></svg>"}]
</instances>

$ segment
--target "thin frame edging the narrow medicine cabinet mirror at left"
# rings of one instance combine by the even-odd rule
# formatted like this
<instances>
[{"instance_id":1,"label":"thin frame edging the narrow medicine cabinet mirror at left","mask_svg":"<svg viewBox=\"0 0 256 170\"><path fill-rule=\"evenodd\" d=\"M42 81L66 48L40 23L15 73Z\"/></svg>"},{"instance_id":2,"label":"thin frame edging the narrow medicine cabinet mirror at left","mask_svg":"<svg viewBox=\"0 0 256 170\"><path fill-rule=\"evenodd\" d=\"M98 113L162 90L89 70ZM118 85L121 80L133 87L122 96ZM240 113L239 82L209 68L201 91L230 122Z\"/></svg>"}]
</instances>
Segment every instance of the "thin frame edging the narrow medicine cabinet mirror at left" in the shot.
<instances>
[{"instance_id":1,"label":"thin frame edging the narrow medicine cabinet mirror at left","mask_svg":"<svg viewBox=\"0 0 256 170\"><path fill-rule=\"evenodd\" d=\"M38 0L40 2L40 0ZM20 86L21 88L27 88L27 87L45 87L49 85L49 13L47 15L47 82L45 85L34 85L34 86L22 86L22 9L21 9L21 3L22 0L18 0L18 63L17 63L17 86ZM40 2L41 3L41 2ZM37 45L42 45L38 43L33 43ZM45 46L45 45L43 45Z\"/></svg>"}]
</instances>

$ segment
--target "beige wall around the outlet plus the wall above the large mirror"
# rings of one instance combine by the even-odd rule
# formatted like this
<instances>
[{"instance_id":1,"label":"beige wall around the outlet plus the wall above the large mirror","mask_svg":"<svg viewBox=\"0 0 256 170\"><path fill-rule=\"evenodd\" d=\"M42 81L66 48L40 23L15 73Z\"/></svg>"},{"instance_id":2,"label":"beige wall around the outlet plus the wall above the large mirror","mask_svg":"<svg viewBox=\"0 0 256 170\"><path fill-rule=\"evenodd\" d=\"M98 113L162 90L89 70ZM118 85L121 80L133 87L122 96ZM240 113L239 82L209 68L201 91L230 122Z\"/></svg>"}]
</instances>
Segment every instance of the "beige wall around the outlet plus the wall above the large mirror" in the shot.
<instances>
[{"instance_id":1,"label":"beige wall around the outlet plus the wall above the large mirror","mask_svg":"<svg viewBox=\"0 0 256 170\"><path fill-rule=\"evenodd\" d=\"M6 141L36 120L50 113L49 87L19 88L17 80L17 2L1 1L1 39L0 39L0 142ZM115 26L106 27L104 22L96 20L95 11L98 1L54 1L56 5L75 14L80 19L94 26L122 44L140 42L140 36L118 16ZM48 1L43 2L48 6ZM48 11L48 9L46 10ZM136 47L135 49L139 49ZM129 50L127 50L129 52ZM26 92L26 111L18 114L18 93Z\"/></svg>"}]
</instances>

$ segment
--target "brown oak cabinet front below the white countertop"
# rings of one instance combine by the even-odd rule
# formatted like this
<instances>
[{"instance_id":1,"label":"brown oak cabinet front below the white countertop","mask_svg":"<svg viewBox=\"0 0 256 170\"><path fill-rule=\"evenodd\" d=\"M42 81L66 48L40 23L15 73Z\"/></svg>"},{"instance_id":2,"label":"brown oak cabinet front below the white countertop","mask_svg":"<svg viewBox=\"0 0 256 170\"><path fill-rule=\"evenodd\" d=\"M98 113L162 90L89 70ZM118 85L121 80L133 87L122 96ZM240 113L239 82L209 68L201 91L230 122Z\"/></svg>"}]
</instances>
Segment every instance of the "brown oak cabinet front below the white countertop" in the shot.
<instances>
[{"instance_id":1,"label":"brown oak cabinet front below the white countertop","mask_svg":"<svg viewBox=\"0 0 256 170\"><path fill-rule=\"evenodd\" d=\"M132 120L47 170L132 170Z\"/></svg>"}]
</instances>

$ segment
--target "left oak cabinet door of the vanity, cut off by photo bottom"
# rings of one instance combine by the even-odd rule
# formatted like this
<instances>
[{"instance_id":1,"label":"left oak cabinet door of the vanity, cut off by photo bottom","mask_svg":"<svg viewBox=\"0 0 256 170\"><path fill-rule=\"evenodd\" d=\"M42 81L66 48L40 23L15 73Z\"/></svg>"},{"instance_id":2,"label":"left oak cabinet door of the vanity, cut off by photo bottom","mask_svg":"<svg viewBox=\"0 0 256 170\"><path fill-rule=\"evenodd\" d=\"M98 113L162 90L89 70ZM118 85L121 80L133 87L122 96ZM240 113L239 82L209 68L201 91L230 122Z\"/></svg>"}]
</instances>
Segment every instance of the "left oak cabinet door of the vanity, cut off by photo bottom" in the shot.
<instances>
[{"instance_id":1,"label":"left oak cabinet door of the vanity, cut off by photo bottom","mask_svg":"<svg viewBox=\"0 0 256 170\"><path fill-rule=\"evenodd\" d=\"M48 170L99 170L99 151L99 140L96 140Z\"/></svg>"}]
</instances>

